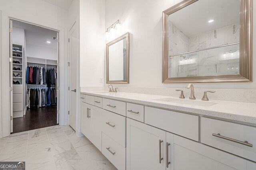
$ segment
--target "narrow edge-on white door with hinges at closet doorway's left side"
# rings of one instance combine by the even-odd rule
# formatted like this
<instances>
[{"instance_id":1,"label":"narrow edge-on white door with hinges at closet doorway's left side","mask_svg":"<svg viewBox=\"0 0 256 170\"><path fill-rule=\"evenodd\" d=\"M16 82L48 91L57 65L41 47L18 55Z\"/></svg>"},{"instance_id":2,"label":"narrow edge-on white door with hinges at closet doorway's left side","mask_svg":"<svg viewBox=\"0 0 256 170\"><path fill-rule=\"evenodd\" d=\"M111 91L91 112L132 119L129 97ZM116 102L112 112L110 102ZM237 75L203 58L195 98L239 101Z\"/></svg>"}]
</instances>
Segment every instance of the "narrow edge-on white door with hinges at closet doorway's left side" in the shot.
<instances>
[{"instance_id":1,"label":"narrow edge-on white door with hinges at closet doorway's left side","mask_svg":"<svg viewBox=\"0 0 256 170\"><path fill-rule=\"evenodd\" d=\"M12 20L10 20L10 88L13 88L12 86ZM23 56L22 56L23 57ZM13 91L10 90L10 133L13 132Z\"/></svg>"}]
</instances>

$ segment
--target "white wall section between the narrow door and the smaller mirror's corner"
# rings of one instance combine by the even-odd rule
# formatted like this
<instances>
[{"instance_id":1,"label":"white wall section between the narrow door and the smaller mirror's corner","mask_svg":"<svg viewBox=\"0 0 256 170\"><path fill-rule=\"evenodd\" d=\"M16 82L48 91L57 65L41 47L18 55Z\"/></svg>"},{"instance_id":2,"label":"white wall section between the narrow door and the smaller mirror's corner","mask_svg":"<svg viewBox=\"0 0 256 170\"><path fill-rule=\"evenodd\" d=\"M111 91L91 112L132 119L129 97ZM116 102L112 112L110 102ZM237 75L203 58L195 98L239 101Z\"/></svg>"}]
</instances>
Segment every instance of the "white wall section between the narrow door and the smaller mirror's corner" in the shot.
<instances>
[{"instance_id":1,"label":"white wall section between the narrow door and the smaller mirror's corner","mask_svg":"<svg viewBox=\"0 0 256 170\"><path fill-rule=\"evenodd\" d=\"M80 86L103 86L105 2L80 0Z\"/></svg>"}]
</instances>

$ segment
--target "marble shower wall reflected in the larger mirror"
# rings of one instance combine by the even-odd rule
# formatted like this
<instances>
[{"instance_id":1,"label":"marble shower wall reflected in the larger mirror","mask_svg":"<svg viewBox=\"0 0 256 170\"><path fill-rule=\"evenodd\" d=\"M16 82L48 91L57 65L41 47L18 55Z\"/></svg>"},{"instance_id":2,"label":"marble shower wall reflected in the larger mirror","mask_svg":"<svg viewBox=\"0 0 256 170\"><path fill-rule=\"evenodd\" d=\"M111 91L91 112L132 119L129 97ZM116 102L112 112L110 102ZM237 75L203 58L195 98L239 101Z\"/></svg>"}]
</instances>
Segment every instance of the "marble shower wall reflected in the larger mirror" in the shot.
<instances>
[{"instance_id":1,"label":"marble shower wall reflected in the larger mirror","mask_svg":"<svg viewBox=\"0 0 256 170\"><path fill-rule=\"evenodd\" d=\"M239 74L239 44L228 45L239 43L239 23L189 37L169 21L168 33L169 78Z\"/></svg>"}]
</instances>

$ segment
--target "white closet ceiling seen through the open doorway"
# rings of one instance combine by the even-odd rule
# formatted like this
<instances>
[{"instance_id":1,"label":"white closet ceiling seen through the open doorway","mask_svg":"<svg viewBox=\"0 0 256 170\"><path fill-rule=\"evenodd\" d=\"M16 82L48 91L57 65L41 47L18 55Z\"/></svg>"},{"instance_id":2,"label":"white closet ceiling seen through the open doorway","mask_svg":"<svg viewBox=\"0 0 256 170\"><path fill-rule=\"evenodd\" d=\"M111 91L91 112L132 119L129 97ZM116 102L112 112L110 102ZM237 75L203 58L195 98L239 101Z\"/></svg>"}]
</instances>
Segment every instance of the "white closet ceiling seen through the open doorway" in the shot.
<instances>
[{"instance_id":1,"label":"white closet ceiling seen through the open doorway","mask_svg":"<svg viewBox=\"0 0 256 170\"><path fill-rule=\"evenodd\" d=\"M25 30L27 44L57 49L57 40L52 40L52 37L57 37L56 31L20 21L13 21L12 26ZM50 41L51 43L46 43L46 41Z\"/></svg>"}]
</instances>

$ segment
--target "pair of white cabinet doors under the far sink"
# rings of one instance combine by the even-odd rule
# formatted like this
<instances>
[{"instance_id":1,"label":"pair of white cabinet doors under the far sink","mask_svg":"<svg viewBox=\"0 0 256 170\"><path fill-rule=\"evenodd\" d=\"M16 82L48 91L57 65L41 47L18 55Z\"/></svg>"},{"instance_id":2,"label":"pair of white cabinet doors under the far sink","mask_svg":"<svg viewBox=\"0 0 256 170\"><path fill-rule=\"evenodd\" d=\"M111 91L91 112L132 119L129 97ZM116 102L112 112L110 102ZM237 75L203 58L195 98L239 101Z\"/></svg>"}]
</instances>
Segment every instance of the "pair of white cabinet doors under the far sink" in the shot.
<instances>
[{"instance_id":1,"label":"pair of white cabinet doors under the far sink","mask_svg":"<svg viewBox=\"0 0 256 170\"><path fill-rule=\"evenodd\" d=\"M81 132L101 150L102 109L82 102Z\"/></svg>"}]
</instances>

